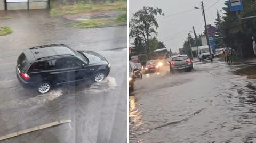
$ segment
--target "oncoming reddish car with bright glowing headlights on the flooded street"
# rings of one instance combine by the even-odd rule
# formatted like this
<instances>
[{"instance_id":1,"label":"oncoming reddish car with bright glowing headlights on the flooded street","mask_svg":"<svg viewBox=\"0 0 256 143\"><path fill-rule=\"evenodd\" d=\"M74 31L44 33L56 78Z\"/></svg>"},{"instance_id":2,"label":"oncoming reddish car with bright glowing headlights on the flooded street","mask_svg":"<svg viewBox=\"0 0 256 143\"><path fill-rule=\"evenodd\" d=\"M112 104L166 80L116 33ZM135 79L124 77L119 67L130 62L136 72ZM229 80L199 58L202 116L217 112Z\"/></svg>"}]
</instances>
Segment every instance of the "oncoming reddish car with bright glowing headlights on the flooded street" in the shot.
<instances>
[{"instance_id":1,"label":"oncoming reddish car with bright glowing headlights on the flooded street","mask_svg":"<svg viewBox=\"0 0 256 143\"><path fill-rule=\"evenodd\" d=\"M145 66L145 74L158 72L162 66L163 66L163 63L160 62L159 60L147 61Z\"/></svg>"}]
</instances>

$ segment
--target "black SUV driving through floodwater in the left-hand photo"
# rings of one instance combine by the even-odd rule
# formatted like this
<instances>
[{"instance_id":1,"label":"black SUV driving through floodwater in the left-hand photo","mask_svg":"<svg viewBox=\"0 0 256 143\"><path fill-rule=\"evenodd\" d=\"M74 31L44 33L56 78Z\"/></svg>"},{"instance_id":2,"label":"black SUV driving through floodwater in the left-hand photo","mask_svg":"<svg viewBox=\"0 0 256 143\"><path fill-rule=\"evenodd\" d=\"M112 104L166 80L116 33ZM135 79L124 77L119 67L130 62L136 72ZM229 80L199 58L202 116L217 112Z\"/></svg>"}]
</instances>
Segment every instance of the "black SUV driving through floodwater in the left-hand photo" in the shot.
<instances>
[{"instance_id":1,"label":"black SUV driving through floodwater in the left-hand photo","mask_svg":"<svg viewBox=\"0 0 256 143\"><path fill-rule=\"evenodd\" d=\"M17 60L17 77L25 88L36 87L45 94L51 87L92 79L102 81L110 72L110 64L93 51L75 51L63 44L33 47Z\"/></svg>"}]
</instances>

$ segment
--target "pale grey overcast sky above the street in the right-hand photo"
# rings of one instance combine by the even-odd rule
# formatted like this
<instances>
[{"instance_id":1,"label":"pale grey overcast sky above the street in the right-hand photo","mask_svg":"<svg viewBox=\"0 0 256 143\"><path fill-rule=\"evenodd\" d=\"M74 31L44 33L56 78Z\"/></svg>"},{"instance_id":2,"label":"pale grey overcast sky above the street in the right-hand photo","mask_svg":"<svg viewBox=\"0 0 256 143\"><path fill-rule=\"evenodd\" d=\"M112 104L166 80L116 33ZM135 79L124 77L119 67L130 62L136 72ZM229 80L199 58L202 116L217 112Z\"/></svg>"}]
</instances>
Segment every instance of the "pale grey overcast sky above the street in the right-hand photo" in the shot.
<instances>
[{"instance_id":1,"label":"pale grey overcast sky above the street in the right-hand photo","mask_svg":"<svg viewBox=\"0 0 256 143\"><path fill-rule=\"evenodd\" d=\"M225 7L225 0L204 0L203 2L205 9L207 9L205 11L207 24L214 26L217 9L222 10L222 7ZM160 41L164 41L166 47L171 48L173 52L178 52L179 48L182 48L188 32L193 30L192 26L195 27L197 34L204 31L202 12L201 10L194 9L194 6L201 7L201 0L130 0L129 18L131 19L132 14L143 6L157 6L162 9L165 16L157 17L159 24L157 38ZM169 16L187 10L193 11ZM194 38L193 33L192 36Z\"/></svg>"}]
</instances>

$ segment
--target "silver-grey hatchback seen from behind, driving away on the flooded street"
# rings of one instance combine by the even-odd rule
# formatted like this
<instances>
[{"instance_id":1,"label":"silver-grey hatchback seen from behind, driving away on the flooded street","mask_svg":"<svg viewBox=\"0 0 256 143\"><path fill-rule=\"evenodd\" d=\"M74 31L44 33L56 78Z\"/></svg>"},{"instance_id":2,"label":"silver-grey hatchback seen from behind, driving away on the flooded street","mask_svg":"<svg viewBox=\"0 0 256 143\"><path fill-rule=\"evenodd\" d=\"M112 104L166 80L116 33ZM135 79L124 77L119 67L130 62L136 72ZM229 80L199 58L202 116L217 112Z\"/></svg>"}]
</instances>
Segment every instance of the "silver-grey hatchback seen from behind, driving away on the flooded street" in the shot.
<instances>
[{"instance_id":1,"label":"silver-grey hatchback seen from behind, driving away on the flooded street","mask_svg":"<svg viewBox=\"0 0 256 143\"><path fill-rule=\"evenodd\" d=\"M188 55L172 56L170 63L170 72L174 74L174 70L185 70L191 72L193 68L193 62Z\"/></svg>"}]
</instances>

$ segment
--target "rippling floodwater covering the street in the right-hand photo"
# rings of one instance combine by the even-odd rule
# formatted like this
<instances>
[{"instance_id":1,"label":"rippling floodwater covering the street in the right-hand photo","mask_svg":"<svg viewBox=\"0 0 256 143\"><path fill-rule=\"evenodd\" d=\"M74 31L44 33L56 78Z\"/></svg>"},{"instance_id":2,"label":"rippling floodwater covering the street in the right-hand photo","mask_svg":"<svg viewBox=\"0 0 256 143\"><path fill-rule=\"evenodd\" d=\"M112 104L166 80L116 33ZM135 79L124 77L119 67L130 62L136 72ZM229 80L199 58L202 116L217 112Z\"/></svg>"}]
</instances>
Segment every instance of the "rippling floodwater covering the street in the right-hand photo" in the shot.
<instances>
[{"instance_id":1,"label":"rippling floodwater covering the street in the right-hand photo","mask_svg":"<svg viewBox=\"0 0 256 143\"><path fill-rule=\"evenodd\" d=\"M130 94L130 142L256 142L256 60L144 75Z\"/></svg>"}]
</instances>

